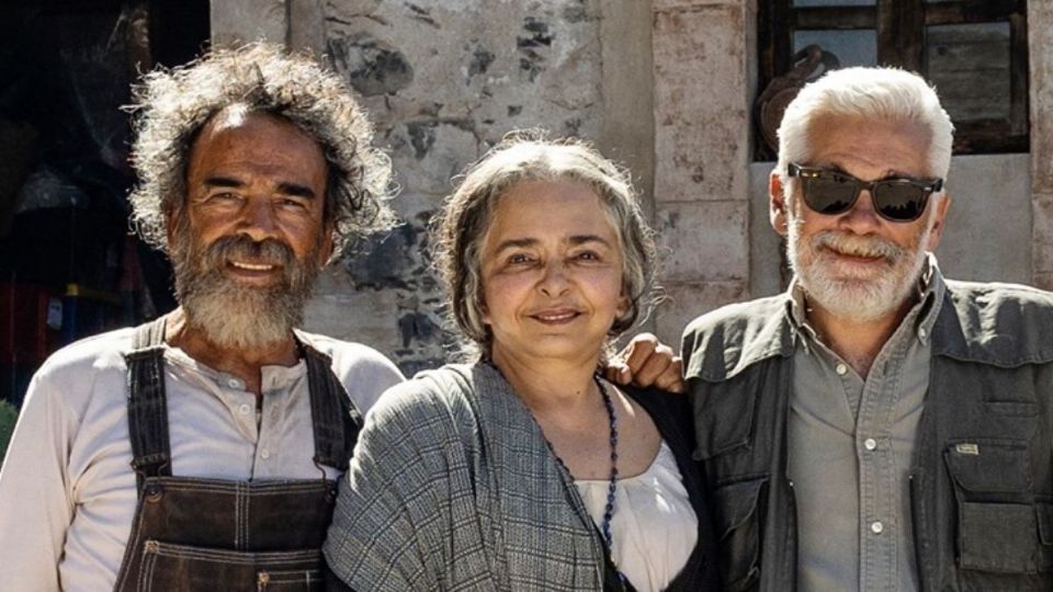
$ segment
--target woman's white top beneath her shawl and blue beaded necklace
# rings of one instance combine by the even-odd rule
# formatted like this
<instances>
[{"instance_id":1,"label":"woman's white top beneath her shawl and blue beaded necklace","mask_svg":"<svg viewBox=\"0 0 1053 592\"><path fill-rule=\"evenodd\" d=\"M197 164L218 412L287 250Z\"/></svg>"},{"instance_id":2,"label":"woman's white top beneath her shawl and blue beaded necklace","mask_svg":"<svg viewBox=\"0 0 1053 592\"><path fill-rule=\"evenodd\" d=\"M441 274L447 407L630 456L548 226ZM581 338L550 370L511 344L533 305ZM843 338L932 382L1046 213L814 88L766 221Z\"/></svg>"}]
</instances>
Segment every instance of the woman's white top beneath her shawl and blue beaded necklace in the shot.
<instances>
[{"instance_id":1,"label":"woman's white top beneath her shawl and blue beaded necklace","mask_svg":"<svg viewBox=\"0 0 1053 592\"><path fill-rule=\"evenodd\" d=\"M600 527L610 481L576 480L575 485ZM611 559L639 592L666 588L687 565L699 538L699 519L665 441L647 470L619 479L611 534Z\"/></svg>"}]
</instances>

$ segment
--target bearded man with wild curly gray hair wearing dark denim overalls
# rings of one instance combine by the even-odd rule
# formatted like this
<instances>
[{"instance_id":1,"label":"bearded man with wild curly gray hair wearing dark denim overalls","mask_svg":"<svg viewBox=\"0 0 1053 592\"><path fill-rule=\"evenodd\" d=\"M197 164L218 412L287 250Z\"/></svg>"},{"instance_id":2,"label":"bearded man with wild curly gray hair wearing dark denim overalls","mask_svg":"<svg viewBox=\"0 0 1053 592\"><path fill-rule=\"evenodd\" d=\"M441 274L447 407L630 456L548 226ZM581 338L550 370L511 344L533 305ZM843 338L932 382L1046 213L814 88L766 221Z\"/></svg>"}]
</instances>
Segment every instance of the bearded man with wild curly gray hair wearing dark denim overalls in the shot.
<instances>
[{"instance_id":1,"label":"bearded man with wild curly gray hair wearing dark denim overalls","mask_svg":"<svg viewBox=\"0 0 1053 592\"><path fill-rule=\"evenodd\" d=\"M398 369L295 327L319 270L390 226L347 86L253 44L136 90L133 225L180 307L53 355L0 473L11 590L314 589L362 413Z\"/></svg>"}]
</instances>

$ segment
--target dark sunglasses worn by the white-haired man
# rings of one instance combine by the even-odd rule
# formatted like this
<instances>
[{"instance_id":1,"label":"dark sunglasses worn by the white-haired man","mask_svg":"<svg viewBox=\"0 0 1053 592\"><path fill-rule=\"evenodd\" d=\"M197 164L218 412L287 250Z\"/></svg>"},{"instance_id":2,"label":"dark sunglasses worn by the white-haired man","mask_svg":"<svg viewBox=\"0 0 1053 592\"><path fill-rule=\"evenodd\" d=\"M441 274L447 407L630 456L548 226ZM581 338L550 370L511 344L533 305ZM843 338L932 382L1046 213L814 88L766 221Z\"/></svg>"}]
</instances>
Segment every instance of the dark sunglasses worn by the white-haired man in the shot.
<instances>
[{"instance_id":1,"label":"dark sunglasses worn by the white-haired man","mask_svg":"<svg viewBox=\"0 0 1053 592\"><path fill-rule=\"evenodd\" d=\"M906 223L921 217L929 195L943 187L942 179L894 178L863 181L840 171L811 169L793 162L790 177L800 177L804 203L828 216L843 214L856 205L863 190L870 192L878 215L888 221Z\"/></svg>"}]
</instances>

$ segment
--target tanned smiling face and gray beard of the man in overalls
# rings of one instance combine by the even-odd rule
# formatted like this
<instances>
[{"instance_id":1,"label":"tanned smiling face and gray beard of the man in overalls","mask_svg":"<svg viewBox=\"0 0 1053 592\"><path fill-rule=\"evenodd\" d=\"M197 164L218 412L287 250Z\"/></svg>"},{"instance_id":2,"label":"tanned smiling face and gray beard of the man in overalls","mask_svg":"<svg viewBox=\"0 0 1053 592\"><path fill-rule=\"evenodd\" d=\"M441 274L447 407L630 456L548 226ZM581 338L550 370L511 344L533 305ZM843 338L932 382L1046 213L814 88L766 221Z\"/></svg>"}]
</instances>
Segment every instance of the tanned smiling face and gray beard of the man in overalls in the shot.
<instances>
[{"instance_id":1,"label":"tanned smiling face and gray beard of the man in overalls","mask_svg":"<svg viewBox=\"0 0 1053 592\"><path fill-rule=\"evenodd\" d=\"M229 107L205 125L169 224L180 304L224 346L288 339L331 249L326 160L292 123Z\"/></svg>"}]
</instances>

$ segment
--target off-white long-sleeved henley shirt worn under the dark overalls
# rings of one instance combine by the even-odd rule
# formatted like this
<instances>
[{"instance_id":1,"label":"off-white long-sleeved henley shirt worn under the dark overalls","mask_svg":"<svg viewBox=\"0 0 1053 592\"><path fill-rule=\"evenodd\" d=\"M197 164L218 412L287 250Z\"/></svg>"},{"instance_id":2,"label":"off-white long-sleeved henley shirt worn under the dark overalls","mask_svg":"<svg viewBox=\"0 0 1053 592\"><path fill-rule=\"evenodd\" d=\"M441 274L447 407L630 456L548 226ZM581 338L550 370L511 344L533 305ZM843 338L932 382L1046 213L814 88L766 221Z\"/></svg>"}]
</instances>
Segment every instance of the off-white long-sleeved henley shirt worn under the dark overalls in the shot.
<instances>
[{"instance_id":1,"label":"off-white long-sleeved henley shirt worn under the dark overalls","mask_svg":"<svg viewBox=\"0 0 1053 592\"><path fill-rule=\"evenodd\" d=\"M363 413L403 379L378 352L299 333L332 356ZM136 505L123 354L133 330L73 343L30 384L0 470L0 587L113 590ZM165 352L172 474L234 480L320 477L306 364L262 371L263 408L229 374ZM338 473L327 469L329 478Z\"/></svg>"}]
</instances>

